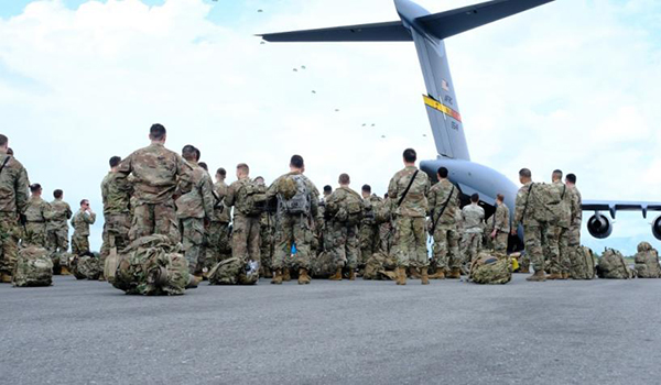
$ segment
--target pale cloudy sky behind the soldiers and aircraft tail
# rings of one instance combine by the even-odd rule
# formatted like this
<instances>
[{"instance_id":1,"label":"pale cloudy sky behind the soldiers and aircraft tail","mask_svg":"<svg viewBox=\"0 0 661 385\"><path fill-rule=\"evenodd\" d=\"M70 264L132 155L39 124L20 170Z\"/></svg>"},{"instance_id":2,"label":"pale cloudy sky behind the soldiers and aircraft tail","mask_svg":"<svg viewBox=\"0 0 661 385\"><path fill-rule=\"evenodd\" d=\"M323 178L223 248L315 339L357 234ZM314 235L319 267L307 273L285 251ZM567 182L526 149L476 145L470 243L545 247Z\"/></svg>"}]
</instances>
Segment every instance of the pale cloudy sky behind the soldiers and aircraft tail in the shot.
<instances>
[{"instance_id":1,"label":"pale cloudy sky behind the soldiers and aircraft tail","mask_svg":"<svg viewBox=\"0 0 661 385\"><path fill-rule=\"evenodd\" d=\"M346 172L382 195L403 148L436 157L412 43L254 34L397 19L389 0L2 1L0 132L47 198L90 199L93 249L108 160L149 144L155 122L229 182L241 162L272 180L297 153L319 188ZM517 185L521 167L539 182L561 168L584 199L661 200L660 30L659 1L560 0L448 38L472 160ZM619 212L610 238L584 229L583 243L659 248L653 218Z\"/></svg>"}]
</instances>

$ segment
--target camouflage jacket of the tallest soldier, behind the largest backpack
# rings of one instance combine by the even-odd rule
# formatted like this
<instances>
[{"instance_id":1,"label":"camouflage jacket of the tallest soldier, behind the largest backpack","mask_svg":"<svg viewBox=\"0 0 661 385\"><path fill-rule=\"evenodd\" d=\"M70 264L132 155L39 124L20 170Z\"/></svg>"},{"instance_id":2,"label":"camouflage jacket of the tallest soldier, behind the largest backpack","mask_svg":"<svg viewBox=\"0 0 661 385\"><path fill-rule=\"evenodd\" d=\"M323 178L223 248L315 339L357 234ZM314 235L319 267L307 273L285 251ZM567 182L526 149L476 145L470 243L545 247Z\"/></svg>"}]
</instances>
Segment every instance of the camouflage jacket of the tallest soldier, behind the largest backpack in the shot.
<instances>
[{"instance_id":1,"label":"camouflage jacket of the tallest soldier, behind the largest backpack","mask_svg":"<svg viewBox=\"0 0 661 385\"><path fill-rule=\"evenodd\" d=\"M119 165L119 173L133 175L137 205L170 201L177 186L177 176L192 169L183 157L159 143L133 152Z\"/></svg>"}]
</instances>

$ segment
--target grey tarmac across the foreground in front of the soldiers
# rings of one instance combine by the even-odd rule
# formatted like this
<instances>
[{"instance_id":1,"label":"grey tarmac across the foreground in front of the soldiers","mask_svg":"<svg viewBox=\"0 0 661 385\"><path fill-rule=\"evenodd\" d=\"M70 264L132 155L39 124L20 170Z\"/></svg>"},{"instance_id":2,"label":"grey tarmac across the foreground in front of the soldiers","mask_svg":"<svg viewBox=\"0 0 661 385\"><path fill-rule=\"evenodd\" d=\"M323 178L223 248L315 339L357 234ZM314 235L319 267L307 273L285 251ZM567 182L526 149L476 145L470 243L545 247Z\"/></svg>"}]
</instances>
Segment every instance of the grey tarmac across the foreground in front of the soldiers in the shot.
<instances>
[{"instance_id":1,"label":"grey tarmac across the foreground in front of the soldiers","mask_svg":"<svg viewBox=\"0 0 661 385\"><path fill-rule=\"evenodd\" d=\"M661 279L0 285L2 384L658 384Z\"/></svg>"}]
</instances>

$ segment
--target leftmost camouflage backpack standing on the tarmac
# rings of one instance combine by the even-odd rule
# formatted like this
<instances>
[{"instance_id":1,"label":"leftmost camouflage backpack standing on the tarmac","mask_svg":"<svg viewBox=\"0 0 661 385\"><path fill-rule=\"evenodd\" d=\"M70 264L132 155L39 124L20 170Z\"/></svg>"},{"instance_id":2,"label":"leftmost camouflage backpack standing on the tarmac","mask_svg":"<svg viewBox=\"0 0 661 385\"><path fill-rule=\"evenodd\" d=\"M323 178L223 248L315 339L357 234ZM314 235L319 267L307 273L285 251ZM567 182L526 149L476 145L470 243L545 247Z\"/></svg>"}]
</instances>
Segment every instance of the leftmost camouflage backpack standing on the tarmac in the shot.
<instances>
[{"instance_id":1,"label":"leftmost camouflage backpack standing on the tarmac","mask_svg":"<svg viewBox=\"0 0 661 385\"><path fill-rule=\"evenodd\" d=\"M51 286L53 283L53 261L43 248L28 246L19 250L13 286Z\"/></svg>"}]
</instances>

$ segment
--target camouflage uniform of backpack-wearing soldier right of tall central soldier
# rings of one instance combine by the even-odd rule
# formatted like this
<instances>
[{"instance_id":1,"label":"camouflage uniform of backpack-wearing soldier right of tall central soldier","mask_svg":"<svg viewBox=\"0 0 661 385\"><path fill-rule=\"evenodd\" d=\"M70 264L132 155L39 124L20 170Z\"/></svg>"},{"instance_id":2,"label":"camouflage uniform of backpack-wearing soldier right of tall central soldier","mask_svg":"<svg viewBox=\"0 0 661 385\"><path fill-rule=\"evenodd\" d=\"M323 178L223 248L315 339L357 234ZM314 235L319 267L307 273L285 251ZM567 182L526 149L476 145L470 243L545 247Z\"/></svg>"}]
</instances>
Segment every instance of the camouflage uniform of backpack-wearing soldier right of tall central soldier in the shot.
<instances>
[{"instance_id":1,"label":"camouflage uniform of backpack-wearing soldier right of tall central soldier","mask_svg":"<svg viewBox=\"0 0 661 385\"><path fill-rule=\"evenodd\" d=\"M348 217L347 204L350 199L362 202L358 193L349 187L342 186L336 188L333 194L326 198L326 210L333 212L329 221L329 250L333 256L335 267L348 267L355 271L358 267L358 257L360 248L358 243L358 221L353 222ZM362 205L360 205L362 209Z\"/></svg>"}]
</instances>

